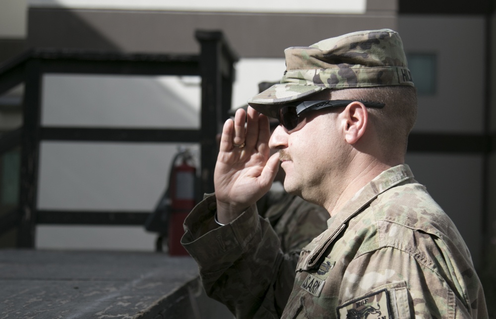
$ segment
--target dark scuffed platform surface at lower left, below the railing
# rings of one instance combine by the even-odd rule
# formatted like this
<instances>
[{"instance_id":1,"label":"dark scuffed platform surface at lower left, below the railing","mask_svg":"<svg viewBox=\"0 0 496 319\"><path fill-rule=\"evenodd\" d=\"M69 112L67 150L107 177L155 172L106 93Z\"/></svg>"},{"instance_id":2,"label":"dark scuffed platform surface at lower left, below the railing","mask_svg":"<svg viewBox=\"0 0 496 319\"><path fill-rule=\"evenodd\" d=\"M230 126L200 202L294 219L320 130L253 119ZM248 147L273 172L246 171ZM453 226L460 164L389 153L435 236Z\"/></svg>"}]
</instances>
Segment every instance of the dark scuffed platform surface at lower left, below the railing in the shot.
<instances>
[{"instance_id":1,"label":"dark scuffed platform surface at lower left, below the railing","mask_svg":"<svg viewBox=\"0 0 496 319\"><path fill-rule=\"evenodd\" d=\"M190 257L0 250L0 318L196 318L196 278Z\"/></svg>"}]
</instances>

